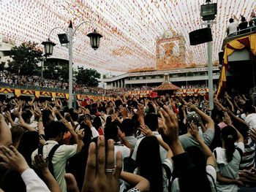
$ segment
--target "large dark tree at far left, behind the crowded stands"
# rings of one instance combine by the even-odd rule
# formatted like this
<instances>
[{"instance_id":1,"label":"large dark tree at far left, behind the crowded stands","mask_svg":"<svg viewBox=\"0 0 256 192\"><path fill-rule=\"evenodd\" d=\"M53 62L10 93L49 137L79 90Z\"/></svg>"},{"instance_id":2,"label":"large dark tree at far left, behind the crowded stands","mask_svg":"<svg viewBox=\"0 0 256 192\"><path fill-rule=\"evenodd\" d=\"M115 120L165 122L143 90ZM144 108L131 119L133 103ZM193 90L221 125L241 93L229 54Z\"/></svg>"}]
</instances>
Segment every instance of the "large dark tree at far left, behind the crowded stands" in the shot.
<instances>
[{"instance_id":1,"label":"large dark tree at far left, behind the crowded stands","mask_svg":"<svg viewBox=\"0 0 256 192\"><path fill-rule=\"evenodd\" d=\"M7 70L15 74L32 75L38 72L37 63L41 61L42 50L35 42L23 42L20 46L12 47L12 59Z\"/></svg>"}]
</instances>

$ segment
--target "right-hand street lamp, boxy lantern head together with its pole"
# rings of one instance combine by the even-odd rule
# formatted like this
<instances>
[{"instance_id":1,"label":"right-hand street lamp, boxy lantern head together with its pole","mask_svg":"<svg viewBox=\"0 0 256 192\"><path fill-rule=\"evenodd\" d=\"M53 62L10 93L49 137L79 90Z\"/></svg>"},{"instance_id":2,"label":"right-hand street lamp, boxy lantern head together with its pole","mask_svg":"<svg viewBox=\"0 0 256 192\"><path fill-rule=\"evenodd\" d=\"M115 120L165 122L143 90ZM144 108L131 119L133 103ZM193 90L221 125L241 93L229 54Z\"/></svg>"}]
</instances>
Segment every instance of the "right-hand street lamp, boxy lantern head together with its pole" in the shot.
<instances>
[{"instance_id":1,"label":"right-hand street lamp, boxy lantern head together with its pole","mask_svg":"<svg viewBox=\"0 0 256 192\"><path fill-rule=\"evenodd\" d=\"M206 4L201 5L200 15L202 20L206 20L207 27L211 30L211 20L217 15L217 4L211 4L211 0L206 0ZM212 42L207 42L208 55L208 89L209 89L209 108L214 109L214 82L212 77Z\"/></svg>"}]
</instances>

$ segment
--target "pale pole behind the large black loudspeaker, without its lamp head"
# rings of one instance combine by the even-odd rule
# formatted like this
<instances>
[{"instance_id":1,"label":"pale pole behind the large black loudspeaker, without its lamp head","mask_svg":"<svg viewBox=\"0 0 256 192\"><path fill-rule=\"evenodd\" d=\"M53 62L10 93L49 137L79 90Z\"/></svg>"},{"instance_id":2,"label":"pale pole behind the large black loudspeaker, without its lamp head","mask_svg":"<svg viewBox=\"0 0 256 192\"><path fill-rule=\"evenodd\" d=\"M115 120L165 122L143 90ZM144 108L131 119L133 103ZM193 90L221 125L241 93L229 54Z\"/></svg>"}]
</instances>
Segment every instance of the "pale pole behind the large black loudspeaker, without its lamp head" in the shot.
<instances>
[{"instance_id":1,"label":"pale pole behind the large black loudspeaker, without its lamp head","mask_svg":"<svg viewBox=\"0 0 256 192\"><path fill-rule=\"evenodd\" d=\"M207 21L208 28L211 28L211 21ZM208 54L208 89L209 89L209 108L214 109L214 83L212 78L212 42L207 42Z\"/></svg>"}]
</instances>

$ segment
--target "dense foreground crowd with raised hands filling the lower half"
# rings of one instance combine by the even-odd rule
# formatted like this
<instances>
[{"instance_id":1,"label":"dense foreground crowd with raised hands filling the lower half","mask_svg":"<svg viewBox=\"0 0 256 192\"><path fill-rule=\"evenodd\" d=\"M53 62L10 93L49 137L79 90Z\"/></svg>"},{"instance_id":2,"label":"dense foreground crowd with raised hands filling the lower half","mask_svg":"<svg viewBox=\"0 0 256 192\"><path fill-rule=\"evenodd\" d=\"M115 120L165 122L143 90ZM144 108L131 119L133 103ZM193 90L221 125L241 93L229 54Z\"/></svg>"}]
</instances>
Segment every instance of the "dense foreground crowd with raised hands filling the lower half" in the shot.
<instances>
[{"instance_id":1,"label":"dense foreground crowd with raised hands filling the lower half","mask_svg":"<svg viewBox=\"0 0 256 192\"><path fill-rule=\"evenodd\" d=\"M0 107L0 191L256 190L249 96L225 92L211 111L168 94Z\"/></svg>"}]
</instances>

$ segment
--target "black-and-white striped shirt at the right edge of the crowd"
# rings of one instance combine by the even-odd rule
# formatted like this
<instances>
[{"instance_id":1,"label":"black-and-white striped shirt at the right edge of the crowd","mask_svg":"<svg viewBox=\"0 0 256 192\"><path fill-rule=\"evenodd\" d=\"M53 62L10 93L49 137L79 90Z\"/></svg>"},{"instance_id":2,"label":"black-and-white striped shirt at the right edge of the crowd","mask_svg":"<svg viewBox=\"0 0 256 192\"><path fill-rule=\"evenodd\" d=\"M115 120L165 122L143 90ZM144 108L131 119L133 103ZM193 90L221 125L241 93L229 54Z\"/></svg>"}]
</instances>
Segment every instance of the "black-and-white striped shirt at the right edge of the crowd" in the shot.
<instances>
[{"instance_id":1,"label":"black-and-white striped shirt at the right edge of the crowd","mask_svg":"<svg viewBox=\"0 0 256 192\"><path fill-rule=\"evenodd\" d=\"M244 143L244 154L240 164L240 170L251 169L255 166L255 142L250 137L247 137L247 143Z\"/></svg>"}]
</instances>

